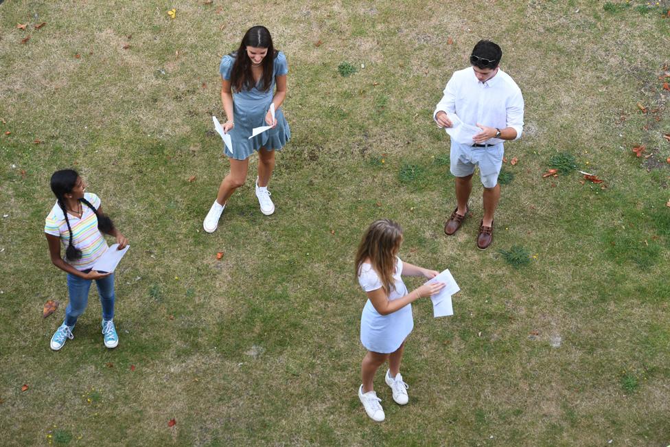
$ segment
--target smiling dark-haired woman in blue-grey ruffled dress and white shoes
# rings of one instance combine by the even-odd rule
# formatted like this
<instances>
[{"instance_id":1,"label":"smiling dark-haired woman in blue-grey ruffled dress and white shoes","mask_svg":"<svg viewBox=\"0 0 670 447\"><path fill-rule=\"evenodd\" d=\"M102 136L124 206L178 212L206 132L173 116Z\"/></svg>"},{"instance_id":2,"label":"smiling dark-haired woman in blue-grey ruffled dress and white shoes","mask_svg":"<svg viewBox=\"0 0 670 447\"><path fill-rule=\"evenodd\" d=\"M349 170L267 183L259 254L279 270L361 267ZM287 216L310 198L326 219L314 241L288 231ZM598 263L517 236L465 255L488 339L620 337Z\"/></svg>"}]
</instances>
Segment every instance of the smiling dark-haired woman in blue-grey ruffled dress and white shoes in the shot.
<instances>
[{"instance_id":1,"label":"smiling dark-haired woman in blue-grey ruffled dress and white shoes","mask_svg":"<svg viewBox=\"0 0 670 447\"><path fill-rule=\"evenodd\" d=\"M261 212L266 216L275 212L270 199L268 181L275 168L275 150L280 150L290 138L288 123L281 110L286 98L286 56L273 46L270 32L264 26L251 27L237 51L223 56L221 73L221 101L227 121L223 130L230 133L233 150L224 146L230 160L230 172L223 179L211 205L203 228L207 233L216 231L218 221L230 196L244 185L249 170L249 156L258 152L256 196ZM275 105L275 119L270 105ZM252 129L271 126L264 133L249 139Z\"/></svg>"}]
</instances>

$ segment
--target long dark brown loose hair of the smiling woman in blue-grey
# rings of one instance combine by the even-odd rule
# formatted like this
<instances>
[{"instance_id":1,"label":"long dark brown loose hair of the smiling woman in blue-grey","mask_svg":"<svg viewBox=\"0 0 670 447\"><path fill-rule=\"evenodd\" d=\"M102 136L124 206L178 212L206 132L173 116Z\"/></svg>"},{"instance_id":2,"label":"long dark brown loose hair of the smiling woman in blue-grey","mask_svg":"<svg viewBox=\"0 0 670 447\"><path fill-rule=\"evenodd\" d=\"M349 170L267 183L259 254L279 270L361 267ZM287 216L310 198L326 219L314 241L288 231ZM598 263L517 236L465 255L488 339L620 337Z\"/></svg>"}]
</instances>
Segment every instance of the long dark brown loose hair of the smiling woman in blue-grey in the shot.
<instances>
[{"instance_id":1,"label":"long dark brown loose hair of the smiling woman in blue-grey","mask_svg":"<svg viewBox=\"0 0 670 447\"><path fill-rule=\"evenodd\" d=\"M231 53L235 56L233 68L231 69L231 85L235 91L251 90L255 87L253 74L251 73L251 59L246 54L246 47L267 48L268 53L263 62L263 76L259 89L267 91L272 86L272 78L275 76L275 58L279 51L275 50L270 32L264 26L254 26L244 33L242 43L237 51Z\"/></svg>"}]
</instances>

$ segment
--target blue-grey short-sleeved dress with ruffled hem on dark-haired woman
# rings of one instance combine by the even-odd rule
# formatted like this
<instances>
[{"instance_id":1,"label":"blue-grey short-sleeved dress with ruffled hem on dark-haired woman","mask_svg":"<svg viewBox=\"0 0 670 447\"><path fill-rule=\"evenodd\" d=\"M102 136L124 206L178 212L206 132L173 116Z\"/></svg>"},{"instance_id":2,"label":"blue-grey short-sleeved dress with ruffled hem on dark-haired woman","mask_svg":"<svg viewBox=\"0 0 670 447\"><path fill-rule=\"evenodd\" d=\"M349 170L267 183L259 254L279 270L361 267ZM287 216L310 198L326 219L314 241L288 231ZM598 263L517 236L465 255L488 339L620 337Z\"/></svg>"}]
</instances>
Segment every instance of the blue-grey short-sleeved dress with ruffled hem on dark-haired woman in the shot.
<instances>
[{"instance_id":1,"label":"blue-grey short-sleeved dress with ruffled hem on dark-haired woman","mask_svg":"<svg viewBox=\"0 0 670 447\"><path fill-rule=\"evenodd\" d=\"M227 54L221 59L219 72L225 80L230 80L233 62L235 62L235 54ZM268 113L270 103L272 103L275 95L275 77L284 76L288 73L286 56L281 51L277 53L275 58L274 69L272 85L268 91L259 90L258 84L251 90L233 91L233 122L235 122L235 126L230 131L233 152L229 151L224 144L223 153L227 157L232 157L235 160L245 160L260 148L280 150L291 137L284 112L281 111L281 108L278 108L275 111L277 127L249 139L253 128L268 125L265 122L265 115ZM259 80L259 82L261 81Z\"/></svg>"}]
</instances>

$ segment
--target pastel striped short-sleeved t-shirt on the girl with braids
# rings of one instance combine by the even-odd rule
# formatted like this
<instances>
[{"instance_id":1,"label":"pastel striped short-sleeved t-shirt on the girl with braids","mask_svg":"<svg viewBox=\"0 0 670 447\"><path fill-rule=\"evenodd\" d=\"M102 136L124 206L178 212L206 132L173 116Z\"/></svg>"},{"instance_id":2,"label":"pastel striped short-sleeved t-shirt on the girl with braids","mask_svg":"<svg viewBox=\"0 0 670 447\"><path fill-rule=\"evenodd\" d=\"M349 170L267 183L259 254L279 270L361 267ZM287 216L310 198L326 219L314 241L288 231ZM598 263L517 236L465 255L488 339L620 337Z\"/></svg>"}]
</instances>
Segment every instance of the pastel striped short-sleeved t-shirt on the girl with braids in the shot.
<instances>
[{"instance_id":1,"label":"pastel striped short-sleeved t-shirt on the girl with braids","mask_svg":"<svg viewBox=\"0 0 670 447\"><path fill-rule=\"evenodd\" d=\"M84 193L84 198L98 209L100 207L100 198L90 192ZM76 268L77 270L88 270L95 264L95 261L107 251L107 241L97 229L97 217L88 205L82 203L82 218L67 215L72 229L72 244L82 251L82 257L78 260L68 260L63 256L63 260ZM45 221L44 232L53 236L60 236L63 247L67 249L70 241L70 232L67 229L65 215L58 206L58 202L49 212Z\"/></svg>"}]
</instances>

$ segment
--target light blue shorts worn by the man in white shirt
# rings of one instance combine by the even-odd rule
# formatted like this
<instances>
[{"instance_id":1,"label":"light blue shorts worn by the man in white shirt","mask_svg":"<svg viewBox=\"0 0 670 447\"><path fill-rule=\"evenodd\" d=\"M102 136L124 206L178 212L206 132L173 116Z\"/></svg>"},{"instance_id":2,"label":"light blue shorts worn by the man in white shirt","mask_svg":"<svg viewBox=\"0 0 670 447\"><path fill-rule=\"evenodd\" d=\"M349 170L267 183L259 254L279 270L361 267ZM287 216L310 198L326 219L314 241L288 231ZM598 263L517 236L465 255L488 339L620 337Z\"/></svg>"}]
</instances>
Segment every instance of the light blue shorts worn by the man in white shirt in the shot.
<instances>
[{"instance_id":1,"label":"light blue shorts worn by the man in white shirt","mask_svg":"<svg viewBox=\"0 0 670 447\"><path fill-rule=\"evenodd\" d=\"M475 148L452 141L449 156L450 171L454 176L467 177L474 172L475 166L479 166L482 185L492 188L498 184L503 154L505 154L505 148L502 147L502 143L488 148Z\"/></svg>"}]
</instances>

